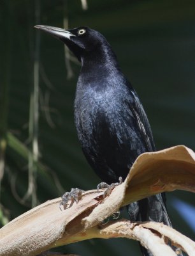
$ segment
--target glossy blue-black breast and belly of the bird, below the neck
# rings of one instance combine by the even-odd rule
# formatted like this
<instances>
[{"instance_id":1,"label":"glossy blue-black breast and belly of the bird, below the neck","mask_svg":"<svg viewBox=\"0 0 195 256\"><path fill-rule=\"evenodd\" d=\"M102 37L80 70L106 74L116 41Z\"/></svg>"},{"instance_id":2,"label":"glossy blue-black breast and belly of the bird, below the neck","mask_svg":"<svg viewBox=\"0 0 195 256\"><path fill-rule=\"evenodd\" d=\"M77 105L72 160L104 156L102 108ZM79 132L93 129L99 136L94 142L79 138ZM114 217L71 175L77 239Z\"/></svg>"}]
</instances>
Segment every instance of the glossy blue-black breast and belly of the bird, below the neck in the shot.
<instances>
[{"instance_id":1,"label":"glossy blue-black breast and belly of the bird, below the neck","mask_svg":"<svg viewBox=\"0 0 195 256\"><path fill-rule=\"evenodd\" d=\"M136 157L147 151L131 109L133 94L122 79L83 82L79 79L76 89L75 124L85 157L105 182L125 179Z\"/></svg>"}]
</instances>

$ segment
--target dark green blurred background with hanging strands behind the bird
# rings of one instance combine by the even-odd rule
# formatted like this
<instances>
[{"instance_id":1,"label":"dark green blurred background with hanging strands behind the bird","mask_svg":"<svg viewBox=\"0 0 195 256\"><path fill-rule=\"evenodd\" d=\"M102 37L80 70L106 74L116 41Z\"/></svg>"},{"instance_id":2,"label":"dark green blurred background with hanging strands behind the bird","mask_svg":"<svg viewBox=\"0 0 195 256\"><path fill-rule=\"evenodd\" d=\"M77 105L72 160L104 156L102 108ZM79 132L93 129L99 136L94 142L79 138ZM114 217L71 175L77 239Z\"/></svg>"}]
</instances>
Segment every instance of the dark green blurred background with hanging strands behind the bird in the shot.
<instances>
[{"instance_id":1,"label":"dark green blurred background with hanging strands behind the bird","mask_svg":"<svg viewBox=\"0 0 195 256\"><path fill-rule=\"evenodd\" d=\"M35 25L100 31L143 102L157 149L183 144L194 150L195 1L88 0L85 6L79 0L1 0L0 22L1 225L64 191L100 182L83 157L73 120L80 64ZM173 227L194 239L194 195L175 191L167 198ZM127 239L59 250L140 253Z\"/></svg>"}]
</instances>

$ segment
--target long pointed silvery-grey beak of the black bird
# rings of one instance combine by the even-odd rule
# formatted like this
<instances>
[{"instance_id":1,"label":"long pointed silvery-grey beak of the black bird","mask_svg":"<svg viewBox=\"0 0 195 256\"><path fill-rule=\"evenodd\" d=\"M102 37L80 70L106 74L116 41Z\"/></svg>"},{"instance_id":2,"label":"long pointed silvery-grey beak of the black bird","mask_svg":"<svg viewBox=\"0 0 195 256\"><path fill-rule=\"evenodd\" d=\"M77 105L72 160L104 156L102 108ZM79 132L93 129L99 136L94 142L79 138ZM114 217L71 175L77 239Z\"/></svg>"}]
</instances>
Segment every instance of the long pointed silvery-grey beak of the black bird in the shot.
<instances>
[{"instance_id":1,"label":"long pointed silvery-grey beak of the black bird","mask_svg":"<svg viewBox=\"0 0 195 256\"><path fill-rule=\"evenodd\" d=\"M70 33L68 30L62 29L62 28L55 28L55 27L50 27L50 26L45 26L45 25L34 26L34 28L41 29L41 30L45 31L46 33L48 33L52 36L55 36L59 39L61 39L61 38L69 39L71 36L75 36L72 33Z\"/></svg>"}]
</instances>

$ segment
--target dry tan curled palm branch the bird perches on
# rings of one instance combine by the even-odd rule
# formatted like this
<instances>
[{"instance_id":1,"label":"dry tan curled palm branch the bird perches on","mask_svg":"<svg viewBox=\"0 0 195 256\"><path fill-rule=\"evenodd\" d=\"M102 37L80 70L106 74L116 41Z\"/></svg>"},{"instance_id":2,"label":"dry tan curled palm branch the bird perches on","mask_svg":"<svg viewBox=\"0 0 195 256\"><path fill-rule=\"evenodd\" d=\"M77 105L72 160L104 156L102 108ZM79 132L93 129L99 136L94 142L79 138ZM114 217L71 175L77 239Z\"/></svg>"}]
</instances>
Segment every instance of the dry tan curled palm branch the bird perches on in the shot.
<instances>
[{"instance_id":1,"label":"dry tan curled palm branch the bird perches on","mask_svg":"<svg viewBox=\"0 0 195 256\"><path fill-rule=\"evenodd\" d=\"M192 255L194 242L161 223L115 221L99 227L101 221L123 205L175 189L195 191L194 152L177 146L142 154L126 180L107 198L103 198L103 189L85 191L78 204L70 201L63 211L59 209L61 198L56 198L8 223L0 230L0 255L38 255L56 246L94 237L128 237L140 241L154 255L165 250L166 255L175 255L164 242L164 237L168 237Z\"/></svg>"}]
</instances>

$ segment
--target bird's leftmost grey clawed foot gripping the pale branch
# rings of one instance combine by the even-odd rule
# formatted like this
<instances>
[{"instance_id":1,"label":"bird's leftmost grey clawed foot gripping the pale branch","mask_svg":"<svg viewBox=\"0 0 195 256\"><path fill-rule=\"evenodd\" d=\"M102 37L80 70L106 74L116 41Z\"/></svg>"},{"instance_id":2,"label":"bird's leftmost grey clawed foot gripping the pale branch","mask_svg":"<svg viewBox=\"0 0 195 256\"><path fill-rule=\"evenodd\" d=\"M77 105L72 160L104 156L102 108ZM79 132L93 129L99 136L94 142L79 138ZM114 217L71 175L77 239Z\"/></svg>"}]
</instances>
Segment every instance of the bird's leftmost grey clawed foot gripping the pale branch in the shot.
<instances>
[{"instance_id":1,"label":"bird's leftmost grey clawed foot gripping the pale branch","mask_svg":"<svg viewBox=\"0 0 195 256\"><path fill-rule=\"evenodd\" d=\"M64 195L62 195L62 201L59 204L61 211L62 211L62 207L66 208L66 205L68 204L69 200L71 200L72 203L76 202L76 204L77 204L82 196L83 191L84 190L79 189L79 188L72 188L70 192L65 192Z\"/></svg>"}]
</instances>

